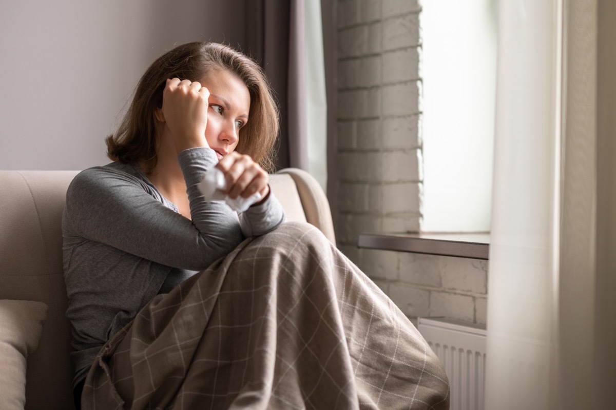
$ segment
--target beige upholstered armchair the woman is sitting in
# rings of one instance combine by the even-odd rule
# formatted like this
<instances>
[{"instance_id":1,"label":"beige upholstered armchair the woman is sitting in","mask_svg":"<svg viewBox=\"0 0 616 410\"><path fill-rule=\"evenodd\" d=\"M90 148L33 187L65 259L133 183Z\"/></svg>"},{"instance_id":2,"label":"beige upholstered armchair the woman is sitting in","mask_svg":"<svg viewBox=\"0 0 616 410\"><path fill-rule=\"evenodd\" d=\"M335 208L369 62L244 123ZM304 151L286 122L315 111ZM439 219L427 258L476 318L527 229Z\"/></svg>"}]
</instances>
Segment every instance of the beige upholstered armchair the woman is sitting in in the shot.
<instances>
[{"instance_id":1,"label":"beige upholstered armchair the woman is sitting in","mask_svg":"<svg viewBox=\"0 0 616 410\"><path fill-rule=\"evenodd\" d=\"M0 171L0 302L5 302L0 303L0 345L9 350L0 349L0 401L12 396L13 406L23 405L20 374L25 371L26 409L73 409L60 222L65 193L76 173ZM307 221L335 243L328 201L312 176L288 168L272 175L271 186L288 220ZM47 309L15 300L43 302ZM10 326L15 329L7 329ZM7 344L2 337L12 339ZM9 360L9 354L17 358ZM2 385L2 380L7 383Z\"/></svg>"}]
</instances>

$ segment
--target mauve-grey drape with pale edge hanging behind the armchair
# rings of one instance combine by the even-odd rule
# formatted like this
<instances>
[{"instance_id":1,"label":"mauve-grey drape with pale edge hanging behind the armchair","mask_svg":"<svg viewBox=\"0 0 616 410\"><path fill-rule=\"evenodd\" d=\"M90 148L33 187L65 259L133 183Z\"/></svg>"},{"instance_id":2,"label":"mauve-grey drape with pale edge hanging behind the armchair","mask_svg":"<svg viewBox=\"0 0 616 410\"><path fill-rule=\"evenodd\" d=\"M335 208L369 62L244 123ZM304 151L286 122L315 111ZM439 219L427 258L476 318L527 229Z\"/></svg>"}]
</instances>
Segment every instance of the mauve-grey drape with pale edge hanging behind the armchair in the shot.
<instances>
[{"instance_id":1,"label":"mauve-grey drape with pale edge hanging behind the armchair","mask_svg":"<svg viewBox=\"0 0 616 410\"><path fill-rule=\"evenodd\" d=\"M246 51L280 106L277 168L308 171L326 188L327 101L320 1L246 0Z\"/></svg>"}]
</instances>

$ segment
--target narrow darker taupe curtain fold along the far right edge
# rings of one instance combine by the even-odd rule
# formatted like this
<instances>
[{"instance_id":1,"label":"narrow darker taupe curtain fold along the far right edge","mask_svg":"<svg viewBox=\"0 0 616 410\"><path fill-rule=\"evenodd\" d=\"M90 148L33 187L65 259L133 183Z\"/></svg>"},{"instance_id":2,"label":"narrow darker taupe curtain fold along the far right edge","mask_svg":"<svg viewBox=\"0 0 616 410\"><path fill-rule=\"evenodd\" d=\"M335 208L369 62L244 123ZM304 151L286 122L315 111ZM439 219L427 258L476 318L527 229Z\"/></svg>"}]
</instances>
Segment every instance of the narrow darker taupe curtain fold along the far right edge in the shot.
<instances>
[{"instance_id":1,"label":"narrow darker taupe curtain fold along the far right edge","mask_svg":"<svg viewBox=\"0 0 616 410\"><path fill-rule=\"evenodd\" d=\"M596 294L590 396L593 408L606 409L614 407L616 386L616 2L596 4Z\"/></svg>"}]
</instances>

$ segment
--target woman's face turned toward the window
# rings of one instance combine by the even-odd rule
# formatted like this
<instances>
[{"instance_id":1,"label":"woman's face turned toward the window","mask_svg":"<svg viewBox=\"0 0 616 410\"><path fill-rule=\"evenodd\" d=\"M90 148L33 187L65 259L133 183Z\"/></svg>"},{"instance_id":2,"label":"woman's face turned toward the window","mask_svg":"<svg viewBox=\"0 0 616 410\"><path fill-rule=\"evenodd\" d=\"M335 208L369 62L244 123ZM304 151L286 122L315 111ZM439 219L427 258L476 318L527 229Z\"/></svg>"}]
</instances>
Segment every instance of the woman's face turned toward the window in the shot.
<instances>
[{"instance_id":1,"label":"woman's face turned toward the window","mask_svg":"<svg viewBox=\"0 0 616 410\"><path fill-rule=\"evenodd\" d=\"M248 122L250 93L244 82L227 70L211 71L200 83L209 90L205 138L221 159L235 149L240 128Z\"/></svg>"}]
</instances>

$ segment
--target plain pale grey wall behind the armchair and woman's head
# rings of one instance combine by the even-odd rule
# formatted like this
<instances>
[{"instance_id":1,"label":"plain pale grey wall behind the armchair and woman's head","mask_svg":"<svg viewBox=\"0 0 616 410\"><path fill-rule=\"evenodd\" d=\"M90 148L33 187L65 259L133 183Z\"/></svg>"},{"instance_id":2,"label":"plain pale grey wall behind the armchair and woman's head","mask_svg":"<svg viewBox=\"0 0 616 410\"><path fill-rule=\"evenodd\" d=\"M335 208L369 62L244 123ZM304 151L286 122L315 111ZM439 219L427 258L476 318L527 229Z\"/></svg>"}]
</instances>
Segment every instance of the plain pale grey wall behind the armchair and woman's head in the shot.
<instances>
[{"instance_id":1,"label":"plain pale grey wall behind the armchair and woman's head","mask_svg":"<svg viewBox=\"0 0 616 410\"><path fill-rule=\"evenodd\" d=\"M0 3L0 169L108 162L141 74L176 44L245 44L245 0Z\"/></svg>"}]
</instances>

